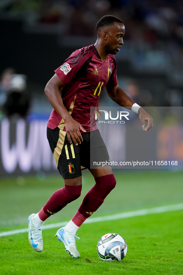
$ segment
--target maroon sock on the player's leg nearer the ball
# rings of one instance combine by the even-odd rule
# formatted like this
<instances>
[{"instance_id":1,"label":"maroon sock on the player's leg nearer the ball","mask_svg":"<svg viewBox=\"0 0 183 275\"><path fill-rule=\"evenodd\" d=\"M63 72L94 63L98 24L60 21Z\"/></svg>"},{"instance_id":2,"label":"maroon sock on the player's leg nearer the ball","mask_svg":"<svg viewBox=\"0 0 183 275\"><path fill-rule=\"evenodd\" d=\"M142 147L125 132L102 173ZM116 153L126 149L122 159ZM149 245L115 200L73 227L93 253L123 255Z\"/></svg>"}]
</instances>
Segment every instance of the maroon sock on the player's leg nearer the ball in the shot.
<instances>
[{"instance_id":1,"label":"maroon sock on the player's leg nearer the ball","mask_svg":"<svg viewBox=\"0 0 183 275\"><path fill-rule=\"evenodd\" d=\"M78 209L79 213L85 218L90 217L93 212L95 212L102 205L107 195L113 188L115 188L115 185L116 180L113 174L96 178L95 185L86 194L80 208ZM77 219L78 217L79 216L77 215ZM72 219L73 222L74 220ZM78 224L79 223L77 220L77 226L80 226L82 223L80 225Z\"/></svg>"}]
</instances>

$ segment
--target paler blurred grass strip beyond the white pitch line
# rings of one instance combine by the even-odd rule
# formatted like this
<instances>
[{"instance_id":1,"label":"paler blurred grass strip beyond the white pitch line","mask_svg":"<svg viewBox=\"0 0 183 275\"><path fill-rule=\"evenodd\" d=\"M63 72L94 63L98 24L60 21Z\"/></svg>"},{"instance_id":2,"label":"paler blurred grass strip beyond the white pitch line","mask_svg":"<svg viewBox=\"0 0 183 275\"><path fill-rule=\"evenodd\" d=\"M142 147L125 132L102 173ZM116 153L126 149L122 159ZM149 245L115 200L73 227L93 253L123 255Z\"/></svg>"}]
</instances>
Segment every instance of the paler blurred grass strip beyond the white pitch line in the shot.
<instances>
[{"instance_id":1,"label":"paler blurred grass strip beyond the white pitch line","mask_svg":"<svg viewBox=\"0 0 183 275\"><path fill-rule=\"evenodd\" d=\"M79 208L83 197L94 185L93 176L83 171L81 197L68 204L62 211L52 215L46 223L70 220ZM183 171L146 171L135 173L116 171L115 189L105 199L102 206L92 215L108 215L154 206L182 202ZM64 186L61 176L47 176L40 181L35 176L8 178L0 180L0 231L9 227L26 225L27 218L37 213L52 193ZM46 224L45 223L45 224Z\"/></svg>"}]
</instances>

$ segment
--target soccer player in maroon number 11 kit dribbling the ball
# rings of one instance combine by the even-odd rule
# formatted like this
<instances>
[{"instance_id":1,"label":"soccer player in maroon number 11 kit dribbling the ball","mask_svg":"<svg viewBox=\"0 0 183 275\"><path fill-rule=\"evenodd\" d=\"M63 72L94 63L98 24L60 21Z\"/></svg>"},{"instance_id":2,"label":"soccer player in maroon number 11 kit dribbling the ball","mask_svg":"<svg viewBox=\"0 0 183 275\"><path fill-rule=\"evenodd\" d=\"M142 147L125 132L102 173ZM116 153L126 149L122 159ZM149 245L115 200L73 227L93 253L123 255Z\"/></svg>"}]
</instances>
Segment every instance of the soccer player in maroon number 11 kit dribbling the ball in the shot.
<instances>
[{"instance_id":1,"label":"soccer player in maroon number 11 kit dribbling the ball","mask_svg":"<svg viewBox=\"0 0 183 275\"><path fill-rule=\"evenodd\" d=\"M44 221L80 196L81 169L89 169L95 185L85 195L72 220L55 235L74 258L80 257L76 248L77 229L102 205L115 187L111 166L90 166L90 140L96 144L92 153L97 160L109 161L96 123L90 120L90 107L98 106L101 90L106 87L112 100L138 113L143 131L152 127L150 115L125 94L116 79L114 55L123 45L123 22L115 16L103 16L96 30L96 43L73 52L55 70L45 88L45 94L54 108L47 124L47 137L65 187L57 190L39 213L28 217L29 242L38 252L43 250ZM61 95L59 88L62 88ZM148 122L146 127L145 121Z\"/></svg>"}]
</instances>

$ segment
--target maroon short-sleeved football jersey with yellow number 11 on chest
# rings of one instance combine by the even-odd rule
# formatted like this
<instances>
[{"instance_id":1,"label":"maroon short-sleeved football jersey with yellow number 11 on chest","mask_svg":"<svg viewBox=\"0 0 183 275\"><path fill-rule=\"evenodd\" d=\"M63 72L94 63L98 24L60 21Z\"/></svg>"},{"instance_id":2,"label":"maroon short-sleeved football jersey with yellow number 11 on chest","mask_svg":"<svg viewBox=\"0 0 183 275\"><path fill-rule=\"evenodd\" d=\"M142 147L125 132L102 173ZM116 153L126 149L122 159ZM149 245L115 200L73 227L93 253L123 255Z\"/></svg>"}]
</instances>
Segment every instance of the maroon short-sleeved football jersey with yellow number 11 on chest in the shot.
<instances>
[{"instance_id":1,"label":"maroon short-sleeved football jersey with yellow number 11 on chest","mask_svg":"<svg viewBox=\"0 0 183 275\"><path fill-rule=\"evenodd\" d=\"M118 84L114 55L107 55L103 62L94 45L84 47L73 52L55 73L65 83L61 96L72 118L87 132L96 130L96 121L90 122L90 107L98 106L99 96L106 85L114 87ZM65 131L65 123L54 109L47 126L51 129L58 126Z\"/></svg>"}]
</instances>

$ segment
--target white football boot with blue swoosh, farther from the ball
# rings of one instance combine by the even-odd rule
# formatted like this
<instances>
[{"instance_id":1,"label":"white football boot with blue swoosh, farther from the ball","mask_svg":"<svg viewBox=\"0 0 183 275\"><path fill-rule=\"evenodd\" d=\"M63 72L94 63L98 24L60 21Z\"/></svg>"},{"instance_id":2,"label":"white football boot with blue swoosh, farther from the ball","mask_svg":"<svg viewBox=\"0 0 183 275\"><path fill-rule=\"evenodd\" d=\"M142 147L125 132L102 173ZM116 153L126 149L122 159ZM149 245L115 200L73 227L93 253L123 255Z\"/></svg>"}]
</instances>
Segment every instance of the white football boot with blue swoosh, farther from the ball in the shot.
<instances>
[{"instance_id":1,"label":"white football boot with blue swoosh, farther from the ball","mask_svg":"<svg viewBox=\"0 0 183 275\"><path fill-rule=\"evenodd\" d=\"M42 226L33 224L32 220L35 215L31 214L28 217L28 240L35 251L41 252L43 250Z\"/></svg>"}]
</instances>

